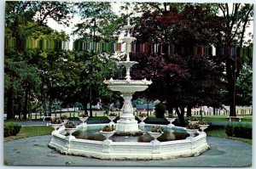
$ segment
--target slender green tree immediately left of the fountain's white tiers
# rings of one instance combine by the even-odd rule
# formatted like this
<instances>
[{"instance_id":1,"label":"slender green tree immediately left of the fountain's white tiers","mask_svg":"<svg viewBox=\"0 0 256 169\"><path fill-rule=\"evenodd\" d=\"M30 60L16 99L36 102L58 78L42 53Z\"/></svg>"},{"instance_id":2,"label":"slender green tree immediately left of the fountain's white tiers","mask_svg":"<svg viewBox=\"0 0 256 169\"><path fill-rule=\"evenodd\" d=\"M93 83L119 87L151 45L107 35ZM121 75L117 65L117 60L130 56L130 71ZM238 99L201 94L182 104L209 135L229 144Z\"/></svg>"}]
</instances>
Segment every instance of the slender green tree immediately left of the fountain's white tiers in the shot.
<instances>
[{"instance_id":1,"label":"slender green tree immediately left of the fountain's white tiers","mask_svg":"<svg viewBox=\"0 0 256 169\"><path fill-rule=\"evenodd\" d=\"M83 2L76 3L76 5L79 8L81 22L76 25L73 34L78 35L79 39L89 42L115 42L117 40L117 35L114 32L118 30L121 20L113 13L110 3ZM109 98L112 95L102 81L108 75L108 69L113 69L113 63L111 64L110 60L110 65L108 65L107 59L103 59L101 54L96 54L93 48L90 51L78 53L78 55L82 57L80 60L84 65L80 72L79 91L83 91L82 103L85 110L87 103L90 104L91 116L93 98L98 98L99 94L102 98Z\"/></svg>"}]
</instances>

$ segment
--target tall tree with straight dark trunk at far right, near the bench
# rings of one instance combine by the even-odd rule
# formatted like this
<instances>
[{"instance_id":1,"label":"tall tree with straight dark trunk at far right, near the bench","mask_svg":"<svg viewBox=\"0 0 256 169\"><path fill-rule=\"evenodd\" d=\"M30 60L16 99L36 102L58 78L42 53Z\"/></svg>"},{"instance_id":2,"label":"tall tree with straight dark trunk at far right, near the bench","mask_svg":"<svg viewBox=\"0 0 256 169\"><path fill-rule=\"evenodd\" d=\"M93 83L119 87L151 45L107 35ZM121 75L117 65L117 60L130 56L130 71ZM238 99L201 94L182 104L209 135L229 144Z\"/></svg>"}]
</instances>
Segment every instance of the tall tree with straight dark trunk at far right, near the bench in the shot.
<instances>
[{"instance_id":1,"label":"tall tree with straight dark trunk at far right, near the bench","mask_svg":"<svg viewBox=\"0 0 256 169\"><path fill-rule=\"evenodd\" d=\"M253 4L219 3L218 7L226 27L221 45L242 48L247 26L253 20ZM236 82L241 73L244 57L240 54L233 56L230 53L224 54L222 57L226 70L230 116L236 116Z\"/></svg>"}]
</instances>

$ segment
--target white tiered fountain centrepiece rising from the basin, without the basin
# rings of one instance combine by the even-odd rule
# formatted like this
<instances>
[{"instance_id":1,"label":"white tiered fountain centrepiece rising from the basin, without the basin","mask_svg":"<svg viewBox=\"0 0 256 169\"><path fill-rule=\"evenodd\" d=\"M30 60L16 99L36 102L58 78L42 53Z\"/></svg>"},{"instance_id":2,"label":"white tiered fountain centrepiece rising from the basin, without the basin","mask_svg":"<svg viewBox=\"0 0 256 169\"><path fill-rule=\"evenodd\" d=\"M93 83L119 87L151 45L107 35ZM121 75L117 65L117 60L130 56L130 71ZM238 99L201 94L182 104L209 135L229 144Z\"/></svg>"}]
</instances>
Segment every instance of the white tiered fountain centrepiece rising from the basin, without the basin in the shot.
<instances>
[{"instance_id":1,"label":"white tiered fountain centrepiece rising from the basin, without the basin","mask_svg":"<svg viewBox=\"0 0 256 169\"><path fill-rule=\"evenodd\" d=\"M124 65L126 69L125 80L113 80L110 78L108 81L104 81L108 85L108 88L112 91L118 91L121 93L121 96L125 99L124 105L122 108L123 114L120 115L120 120L117 121L116 132L122 133L133 133L138 132L138 124L133 115L133 107L131 104L132 94L136 92L142 92L148 88L152 82L143 80L131 80L130 70L133 65L136 65L136 61L131 61L129 57L129 48L131 42L135 41L135 37L131 37L130 30L133 26L130 25L130 20L128 19L128 24L124 26L125 31L127 31L126 37L121 38L125 42L125 61L120 61L119 65Z\"/></svg>"}]
</instances>

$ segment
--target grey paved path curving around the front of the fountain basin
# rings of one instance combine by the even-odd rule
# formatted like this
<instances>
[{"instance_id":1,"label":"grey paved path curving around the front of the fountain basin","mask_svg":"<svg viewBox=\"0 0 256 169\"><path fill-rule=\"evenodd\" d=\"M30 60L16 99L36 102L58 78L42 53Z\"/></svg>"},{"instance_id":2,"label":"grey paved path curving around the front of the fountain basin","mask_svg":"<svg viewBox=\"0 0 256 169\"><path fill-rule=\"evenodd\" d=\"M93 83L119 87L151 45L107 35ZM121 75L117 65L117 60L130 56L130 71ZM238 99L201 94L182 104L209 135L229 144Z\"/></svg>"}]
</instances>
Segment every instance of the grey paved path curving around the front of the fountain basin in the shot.
<instances>
[{"instance_id":1,"label":"grey paved path curving around the front of the fountain basin","mask_svg":"<svg viewBox=\"0 0 256 169\"><path fill-rule=\"evenodd\" d=\"M197 157L166 161L106 161L61 155L48 144L51 136L13 140L4 144L3 158L18 166L251 166L252 146L240 141L207 137L211 149Z\"/></svg>"}]
</instances>

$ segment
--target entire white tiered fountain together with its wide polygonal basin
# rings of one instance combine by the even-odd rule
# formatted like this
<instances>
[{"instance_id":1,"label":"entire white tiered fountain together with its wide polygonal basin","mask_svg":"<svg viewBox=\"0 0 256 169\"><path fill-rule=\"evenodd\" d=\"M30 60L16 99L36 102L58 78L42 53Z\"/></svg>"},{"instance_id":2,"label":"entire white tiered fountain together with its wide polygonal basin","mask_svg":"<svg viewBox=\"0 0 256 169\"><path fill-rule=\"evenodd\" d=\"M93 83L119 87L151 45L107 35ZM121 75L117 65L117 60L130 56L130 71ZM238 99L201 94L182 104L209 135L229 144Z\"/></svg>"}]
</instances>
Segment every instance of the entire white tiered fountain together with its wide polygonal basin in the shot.
<instances>
[{"instance_id":1,"label":"entire white tiered fountain together with its wide polygonal basin","mask_svg":"<svg viewBox=\"0 0 256 169\"><path fill-rule=\"evenodd\" d=\"M127 36L122 38L126 42L126 60L119 62L119 65L125 66L125 80L110 78L104 81L110 90L120 92L125 99L119 121L116 124L113 120L110 122L111 125L115 126L115 131L102 131L103 127L109 126L108 123L86 124L83 122L72 131L65 131L65 127L59 127L55 132L52 132L49 147L65 155L108 160L166 160L201 155L209 149L206 132L197 131L197 134L190 134L187 137L186 132L189 131L186 131L185 127L176 127L172 121L167 126L143 122L138 125L135 120L131 105L132 94L146 90L152 82L146 79L140 81L131 79L131 67L137 64L129 58L129 45L136 40L130 35L131 27L132 25L128 20L128 24L125 25ZM150 127L156 126L163 128L165 132L150 131ZM80 132L80 135L84 134L85 137L76 135L74 130ZM134 133L140 133L140 136L133 136ZM178 134L175 135L175 133ZM164 136L166 138L161 138Z\"/></svg>"}]
</instances>

